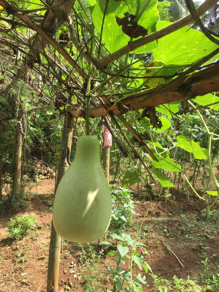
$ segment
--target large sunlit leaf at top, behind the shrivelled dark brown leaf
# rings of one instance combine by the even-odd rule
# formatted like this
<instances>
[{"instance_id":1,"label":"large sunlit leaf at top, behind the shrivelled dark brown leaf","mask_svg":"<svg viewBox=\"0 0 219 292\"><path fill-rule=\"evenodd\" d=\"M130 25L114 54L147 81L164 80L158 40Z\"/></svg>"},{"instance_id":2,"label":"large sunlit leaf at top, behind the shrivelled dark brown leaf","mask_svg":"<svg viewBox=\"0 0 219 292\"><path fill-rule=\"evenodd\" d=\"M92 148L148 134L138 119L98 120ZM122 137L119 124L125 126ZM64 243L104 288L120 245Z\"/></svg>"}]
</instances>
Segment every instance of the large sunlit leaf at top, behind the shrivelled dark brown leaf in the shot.
<instances>
[{"instance_id":1,"label":"large sunlit leaf at top, behind the shrivelled dark brown leaf","mask_svg":"<svg viewBox=\"0 0 219 292\"><path fill-rule=\"evenodd\" d=\"M145 0L140 0L140 7L142 7ZM115 1L108 0L106 13L104 17L106 0L99 0L94 6L92 12L92 19L95 29L100 33L102 28L102 22L104 18L102 39L106 42L106 48L110 53L124 47L130 41L130 37L122 31L122 26L118 26L116 23L116 16L123 18L125 12L134 14L136 11L137 0L127 1ZM146 11L143 13L138 21L138 24L143 26L151 32L151 26L159 20L159 14L157 11L157 0L151 0ZM157 46L156 42L148 44L135 50L135 53L147 53L151 52L153 48Z\"/></svg>"}]
</instances>

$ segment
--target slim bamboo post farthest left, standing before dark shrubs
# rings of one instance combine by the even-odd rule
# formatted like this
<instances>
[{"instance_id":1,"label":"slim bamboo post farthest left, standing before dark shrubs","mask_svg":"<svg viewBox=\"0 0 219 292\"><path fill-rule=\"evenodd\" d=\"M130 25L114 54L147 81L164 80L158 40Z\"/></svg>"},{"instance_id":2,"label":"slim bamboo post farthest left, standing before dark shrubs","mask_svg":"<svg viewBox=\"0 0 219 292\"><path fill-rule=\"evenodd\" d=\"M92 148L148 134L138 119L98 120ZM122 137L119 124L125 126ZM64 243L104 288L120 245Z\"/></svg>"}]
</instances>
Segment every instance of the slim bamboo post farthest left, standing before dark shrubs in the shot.
<instances>
[{"instance_id":1,"label":"slim bamboo post farthest left, standing before dark shrubs","mask_svg":"<svg viewBox=\"0 0 219 292\"><path fill-rule=\"evenodd\" d=\"M18 119L16 127L16 150L15 150L15 176L14 176L14 194L18 195L21 180L21 159L22 159L22 134L20 133L19 123L22 119Z\"/></svg>"}]
</instances>

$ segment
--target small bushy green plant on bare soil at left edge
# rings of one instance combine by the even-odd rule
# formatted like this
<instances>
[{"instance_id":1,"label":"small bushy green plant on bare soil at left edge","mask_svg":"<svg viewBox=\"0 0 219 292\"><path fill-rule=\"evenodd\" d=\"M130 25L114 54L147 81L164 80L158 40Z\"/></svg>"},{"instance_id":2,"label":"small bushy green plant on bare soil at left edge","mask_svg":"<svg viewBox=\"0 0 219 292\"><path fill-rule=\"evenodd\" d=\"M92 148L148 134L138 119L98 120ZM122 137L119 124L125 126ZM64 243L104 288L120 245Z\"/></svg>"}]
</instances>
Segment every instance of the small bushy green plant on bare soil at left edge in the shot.
<instances>
[{"instance_id":1,"label":"small bushy green plant on bare soil at left edge","mask_svg":"<svg viewBox=\"0 0 219 292\"><path fill-rule=\"evenodd\" d=\"M33 214L11 218L7 227L9 236L15 240L21 240L29 234L31 227L36 227L36 221Z\"/></svg>"}]
</instances>

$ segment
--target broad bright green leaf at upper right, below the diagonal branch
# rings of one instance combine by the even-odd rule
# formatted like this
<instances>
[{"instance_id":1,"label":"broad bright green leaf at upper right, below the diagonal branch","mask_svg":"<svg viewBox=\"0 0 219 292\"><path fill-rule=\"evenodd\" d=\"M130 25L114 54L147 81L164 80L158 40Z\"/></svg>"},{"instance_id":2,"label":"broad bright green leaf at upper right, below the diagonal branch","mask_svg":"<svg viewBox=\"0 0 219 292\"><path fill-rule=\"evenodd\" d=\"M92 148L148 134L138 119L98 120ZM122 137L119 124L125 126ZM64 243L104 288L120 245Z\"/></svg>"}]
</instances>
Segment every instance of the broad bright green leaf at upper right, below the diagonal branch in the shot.
<instances>
[{"instance_id":1,"label":"broad bright green leaf at upper right, below the diagonal branch","mask_svg":"<svg viewBox=\"0 0 219 292\"><path fill-rule=\"evenodd\" d=\"M168 21L158 21L157 30L169 24ZM156 61L161 61L165 65L187 65L211 53L217 47L203 33L186 26L159 39L158 47L153 50L153 56Z\"/></svg>"}]
</instances>

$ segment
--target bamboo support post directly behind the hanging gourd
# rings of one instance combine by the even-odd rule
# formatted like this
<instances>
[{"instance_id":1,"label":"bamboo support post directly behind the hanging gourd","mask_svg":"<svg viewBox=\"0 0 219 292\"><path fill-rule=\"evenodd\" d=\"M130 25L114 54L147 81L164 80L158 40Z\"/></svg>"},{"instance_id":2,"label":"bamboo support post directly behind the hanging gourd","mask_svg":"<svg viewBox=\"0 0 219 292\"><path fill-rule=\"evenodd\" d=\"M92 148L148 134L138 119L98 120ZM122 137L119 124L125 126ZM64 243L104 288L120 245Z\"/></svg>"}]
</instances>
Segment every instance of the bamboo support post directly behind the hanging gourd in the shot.
<instances>
[{"instance_id":1,"label":"bamboo support post directly behind the hanging gourd","mask_svg":"<svg viewBox=\"0 0 219 292\"><path fill-rule=\"evenodd\" d=\"M67 147L71 149L71 140L73 134L73 118L68 115L65 117L62 141L61 141L61 152L59 158L59 166L57 173L57 180L55 185L55 191L57 186L69 167L67 162ZM69 151L70 152L70 151ZM58 292L58 275L59 275L59 258L61 249L61 237L56 233L55 228L51 226L51 236L50 236L50 249L49 249L49 262L48 262L48 277L47 277L47 292Z\"/></svg>"}]
</instances>

